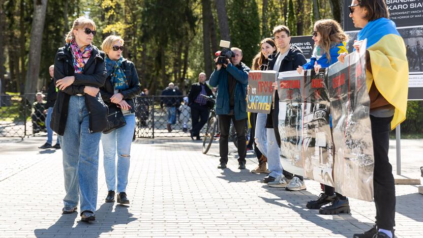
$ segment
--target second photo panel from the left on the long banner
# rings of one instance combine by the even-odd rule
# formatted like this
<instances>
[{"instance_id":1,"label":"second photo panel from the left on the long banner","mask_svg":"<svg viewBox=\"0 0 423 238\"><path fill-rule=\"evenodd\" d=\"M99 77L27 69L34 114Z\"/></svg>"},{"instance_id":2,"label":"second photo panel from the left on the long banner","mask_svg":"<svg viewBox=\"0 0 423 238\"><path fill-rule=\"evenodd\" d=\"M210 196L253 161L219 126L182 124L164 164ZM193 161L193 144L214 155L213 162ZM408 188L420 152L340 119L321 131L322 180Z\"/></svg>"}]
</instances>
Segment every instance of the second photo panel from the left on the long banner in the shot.
<instances>
[{"instance_id":1,"label":"second photo panel from the left on the long banner","mask_svg":"<svg viewBox=\"0 0 423 238\"><path fill-rule=\"evenodd\" d=\"M305 175L334 186L333 141L330 132L330 102L326 70L307 70L304 77L303 149Z\"/></svg>"}]
</instances>

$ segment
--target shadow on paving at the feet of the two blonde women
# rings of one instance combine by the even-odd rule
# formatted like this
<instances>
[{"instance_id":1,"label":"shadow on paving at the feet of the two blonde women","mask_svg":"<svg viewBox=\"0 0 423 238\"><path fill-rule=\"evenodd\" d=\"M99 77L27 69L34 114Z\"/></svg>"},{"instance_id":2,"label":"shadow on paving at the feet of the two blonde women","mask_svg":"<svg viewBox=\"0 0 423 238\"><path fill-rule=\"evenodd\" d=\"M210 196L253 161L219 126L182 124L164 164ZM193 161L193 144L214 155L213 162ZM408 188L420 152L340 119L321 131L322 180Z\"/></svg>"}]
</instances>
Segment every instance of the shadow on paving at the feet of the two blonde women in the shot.
<instances>
[{"instance_id":1,"label":"shadow on paving at the feet of the two blonde women","mask_svg":"<svg viewBox=\"0 0 423 238\"><path fill-rule=\"evenodd\" d=\"M137 220L133 214L128 212L126 205L117 204L114 212L113 206L115 203L104 203L100 209L96 211L96 221L82 222L77 221L77 225L72 227L75 219L80 219L79 213L62 215L59 220L48 229L36 229L34 231L36 237L51 237L56 236L71 236L71 234L80 234L89 237L99 237L102 233L107 233L113 230L114 225L129 224ZM78 211L79 212L79 211Z\"/></svg>"}]
</instances>

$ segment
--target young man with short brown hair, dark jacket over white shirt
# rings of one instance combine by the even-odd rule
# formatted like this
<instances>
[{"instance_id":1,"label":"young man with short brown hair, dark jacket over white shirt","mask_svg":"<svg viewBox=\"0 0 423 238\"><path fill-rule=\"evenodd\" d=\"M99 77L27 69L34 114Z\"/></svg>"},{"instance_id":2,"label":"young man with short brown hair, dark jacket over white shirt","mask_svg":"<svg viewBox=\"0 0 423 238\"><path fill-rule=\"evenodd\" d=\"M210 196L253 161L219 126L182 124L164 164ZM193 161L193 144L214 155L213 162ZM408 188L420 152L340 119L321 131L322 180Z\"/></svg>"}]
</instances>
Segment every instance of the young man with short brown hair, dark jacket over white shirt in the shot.
<instances>
[{"instance_id":1,"label":"young man with short brown hair, dark jacket over white shirt","mask_svg":"<svg viewBox=\"0 0 423 238\"><path fill-rule=\"evenodd\" d=\"M289 28L285 25L278 25L273 29L273 35L275 36L275 42L278 45L279 53L273 58L268 65L267 70L274 70L276 72L284 72L284 71L292 71L296 70L298 66L304 65L307 63L306 57L304 57L303 52L296 47L295 45L291 45L291 32ZM274 83L274 86L277 90L277 83ZM274 107L271 108L270 113L267 115L266 121L266 128L273 129L268 130L267 134L271 136L275 136L276 142L278 147L281 146L281 137L279 135L278 130L278 114L279 114L279 96L278 92L275 93L275 104ZM271 133L270 133L271 132ZM269 141L269 139L268 139ZM280 152L280 149L279 149ZM280 158L276 161L271 161L267 158L267 163L269 165L269 170L271 171L271 167L279 166L282 169L282 164ZM269 175L270 176L270 175ZM292 191L299 191L306 189L306 185L304 183L304 178L302 176L293 175L292 173L285 171L282 169L282 174L276 178L272 177L265 177L264 181L273 179L273 182L268 182L270 187L286 187L290 181L293 181L293 186L290 190Z\"/></svg>"}]
</instances>

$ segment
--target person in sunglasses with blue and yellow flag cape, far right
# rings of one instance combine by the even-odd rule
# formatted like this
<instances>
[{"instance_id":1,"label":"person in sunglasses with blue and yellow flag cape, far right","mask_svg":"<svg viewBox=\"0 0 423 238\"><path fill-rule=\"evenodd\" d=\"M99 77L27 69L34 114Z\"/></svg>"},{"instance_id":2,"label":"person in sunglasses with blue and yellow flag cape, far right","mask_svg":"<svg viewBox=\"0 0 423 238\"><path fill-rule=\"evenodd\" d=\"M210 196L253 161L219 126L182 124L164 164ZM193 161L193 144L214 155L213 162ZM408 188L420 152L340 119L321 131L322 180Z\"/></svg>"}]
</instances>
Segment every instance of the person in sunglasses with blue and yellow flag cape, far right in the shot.
<instances>
[{"instance_id":1,"label":"person in sunglasses with blue and yellow flag cape, far right","mask_svg":"<svg viewBox=\"0 0 423 238\"><path fill-rule=\"evenodd\" d=\"M376 225L353 237L394 237L395 184L388 159L389 132L405 120L408 96L408 62L404 40L384 0L353 0L349 6L358 32L354 50L366 50L366 83L370 97L372 128L373 189ZM360 48L367 39L366 48ZM346 54L339 60L344 62Z\"/></svg>"}]
</instances>

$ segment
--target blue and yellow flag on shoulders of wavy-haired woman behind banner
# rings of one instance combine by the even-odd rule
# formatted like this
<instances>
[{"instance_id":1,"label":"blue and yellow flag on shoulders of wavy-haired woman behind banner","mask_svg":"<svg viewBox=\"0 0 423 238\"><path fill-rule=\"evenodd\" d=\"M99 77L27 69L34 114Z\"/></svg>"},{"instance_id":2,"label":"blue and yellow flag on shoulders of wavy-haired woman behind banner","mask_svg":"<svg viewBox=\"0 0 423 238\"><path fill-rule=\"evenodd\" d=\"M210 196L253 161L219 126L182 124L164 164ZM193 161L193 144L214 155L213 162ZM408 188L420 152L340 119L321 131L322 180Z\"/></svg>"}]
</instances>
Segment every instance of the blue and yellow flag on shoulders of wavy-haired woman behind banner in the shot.
<instances>
[{"instance_id":1,"label":"blue and yellow flag on shoulders of wavy-haired woman behind banner","mask_svg":"<svg viewBox=\"0 0 423 238\"><path fill-rule=\"evenodd\" d=\"M347 43L343 41L331 47L329 49L330 61L327 60L326 52L323 52L323 50L319 46L316 46L313 50L313 55L310 58L310 62L303 65L303 68L305 70L314 69L314 63L316 61L317 61L317 64L320 65L322 68L327 68L329 67L329 65L333 65L337 63L338 56L341 53L348 53L346 45Z\"/></svg>"}]
</instances>

